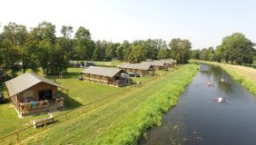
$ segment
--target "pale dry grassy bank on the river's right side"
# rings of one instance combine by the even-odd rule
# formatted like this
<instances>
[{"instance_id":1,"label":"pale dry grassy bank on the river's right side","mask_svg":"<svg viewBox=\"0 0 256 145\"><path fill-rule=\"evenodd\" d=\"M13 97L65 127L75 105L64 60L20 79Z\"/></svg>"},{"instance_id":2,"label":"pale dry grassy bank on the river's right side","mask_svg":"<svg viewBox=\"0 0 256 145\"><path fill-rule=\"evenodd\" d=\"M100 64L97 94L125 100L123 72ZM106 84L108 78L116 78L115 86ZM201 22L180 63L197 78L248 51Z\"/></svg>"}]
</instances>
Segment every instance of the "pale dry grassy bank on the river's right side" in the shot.
<instances>
[{"instance_id":1,"label":"pale dry grassy bank on the river's right side","mask_svg":"<svg viewBox=\"0 0 256 145\"><path fill-rule=\"evenodd\" d=\"M229 73L234 80L241 82L241 85L248 89L250 92L256 94L256 69L251 67L232 65L227 63L216 63L207 61L195 61L200 63L207 63L220 66L223 70Z\"/></svg>"}]
</instances>

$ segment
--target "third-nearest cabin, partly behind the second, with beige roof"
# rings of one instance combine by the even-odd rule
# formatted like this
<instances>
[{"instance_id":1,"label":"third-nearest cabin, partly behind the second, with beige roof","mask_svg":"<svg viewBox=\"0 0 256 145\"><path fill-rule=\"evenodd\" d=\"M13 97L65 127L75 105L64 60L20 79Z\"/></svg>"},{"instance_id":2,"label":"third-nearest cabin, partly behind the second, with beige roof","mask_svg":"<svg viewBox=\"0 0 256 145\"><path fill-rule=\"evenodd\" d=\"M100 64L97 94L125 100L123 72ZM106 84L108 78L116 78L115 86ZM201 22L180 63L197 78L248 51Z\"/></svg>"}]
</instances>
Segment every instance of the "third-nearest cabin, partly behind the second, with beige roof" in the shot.
<instances>
[{"instance_id":1,"label":"third-nearest cabin, partly behind the second, with beige roof","mask_svg":"<svg viewBox=\"0 0 256 145\"><path fill-rule=\"evenodd\" d=\"M136 73L140 76L153 76L154 70L150 63L123 63L119 66L127 73Z\"/></svg>"}]
</instances>

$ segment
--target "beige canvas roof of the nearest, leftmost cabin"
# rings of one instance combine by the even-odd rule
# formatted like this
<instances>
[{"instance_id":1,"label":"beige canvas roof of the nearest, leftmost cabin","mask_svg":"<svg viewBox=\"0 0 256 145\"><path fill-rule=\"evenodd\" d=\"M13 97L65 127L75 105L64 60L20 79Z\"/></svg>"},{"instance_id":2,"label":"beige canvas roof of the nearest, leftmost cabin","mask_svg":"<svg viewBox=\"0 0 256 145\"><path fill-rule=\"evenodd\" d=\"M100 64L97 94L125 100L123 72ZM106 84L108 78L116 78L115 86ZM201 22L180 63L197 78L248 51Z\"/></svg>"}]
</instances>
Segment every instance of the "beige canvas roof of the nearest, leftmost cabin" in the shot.
<instances>
[{"instance_id":1,"label":"beige canvas roof of the nearest, leftmost cabin","mask_svg":"<svg viewBox=\"0 0 256 145\"><path fill-rule=\"evenodd\" d=\"M45 82L63 88L61 85L52 82L44 77L38 76L34 73L24 73L20 76L15 77L12 80L5 82L5 85L7 87L9 95L14 96L19 92L24 92L25 90L29 89L30 87L34 86L39 82Z\"/></svg>"}]
</instances>

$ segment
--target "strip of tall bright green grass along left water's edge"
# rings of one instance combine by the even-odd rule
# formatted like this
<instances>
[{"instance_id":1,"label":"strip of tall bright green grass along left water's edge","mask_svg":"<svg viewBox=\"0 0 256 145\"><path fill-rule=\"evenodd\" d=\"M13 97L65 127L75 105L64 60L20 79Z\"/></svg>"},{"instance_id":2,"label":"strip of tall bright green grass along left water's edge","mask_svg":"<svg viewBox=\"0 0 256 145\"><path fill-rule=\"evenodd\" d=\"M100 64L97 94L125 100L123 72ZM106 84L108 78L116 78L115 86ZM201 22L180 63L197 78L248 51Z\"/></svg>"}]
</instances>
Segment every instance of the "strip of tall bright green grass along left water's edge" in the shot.
<instances>
[{"instance_id":1,"label":"strip of tall bright green grass along left water's edge","mask_svg":"<svg viewBox=\"0 0 256 145\"><path fill-rule=\"evenodd\" d=\"M87 143L137 144L150 128L160 125L162 115L177 104L185 86L192 82L192 77L197 72L195 66L189 68L183 70L180 75L167 76L165 79L167 83L123 118L115 129L106 131L96 140L90 140Z\"/></svg>"}]
</instances>

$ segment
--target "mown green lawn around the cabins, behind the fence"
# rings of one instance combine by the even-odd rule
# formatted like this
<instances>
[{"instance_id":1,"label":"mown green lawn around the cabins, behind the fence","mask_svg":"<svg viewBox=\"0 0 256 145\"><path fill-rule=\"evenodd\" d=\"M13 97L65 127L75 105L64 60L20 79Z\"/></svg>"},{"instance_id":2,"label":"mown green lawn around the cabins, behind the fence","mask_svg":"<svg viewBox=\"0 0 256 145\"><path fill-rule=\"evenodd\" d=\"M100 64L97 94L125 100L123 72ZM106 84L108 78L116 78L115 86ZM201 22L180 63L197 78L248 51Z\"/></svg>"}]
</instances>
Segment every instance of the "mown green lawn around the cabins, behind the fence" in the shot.
<instances>
[{"instance_id":1,"label":"mown green lawn around the cabins, behind the fence","mask_svg":"<svg viewBox=\"0 0 256 145\"><path fill-rule=\"evenodd\" d=\"M83 104L94 102L105 96L112 95L116 92L122 92L126 88L115 88L98 84L94 82L83 82L77 80L83 68L69 68L68 73L64 73L64 78L59 76L48 76L48 79L55 80L69 90L65 98L64 111L71 111ZM43 73L39 73L43 75ZM152 77L133 78L133 81L147 82ZM0 84L0 92L4 92L3 84ZM7 94L5 93L5 97ZM59 112L63 113L63 111ZM47 114L18 118L14 105L11 102L0 104L0 137L11 132L23 129L32 124L32 121L44 118Z\"/></svg>"}]
</instances>

